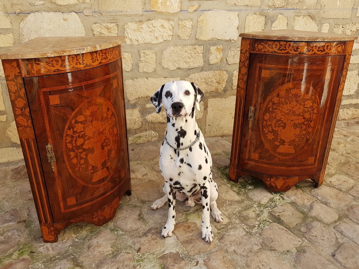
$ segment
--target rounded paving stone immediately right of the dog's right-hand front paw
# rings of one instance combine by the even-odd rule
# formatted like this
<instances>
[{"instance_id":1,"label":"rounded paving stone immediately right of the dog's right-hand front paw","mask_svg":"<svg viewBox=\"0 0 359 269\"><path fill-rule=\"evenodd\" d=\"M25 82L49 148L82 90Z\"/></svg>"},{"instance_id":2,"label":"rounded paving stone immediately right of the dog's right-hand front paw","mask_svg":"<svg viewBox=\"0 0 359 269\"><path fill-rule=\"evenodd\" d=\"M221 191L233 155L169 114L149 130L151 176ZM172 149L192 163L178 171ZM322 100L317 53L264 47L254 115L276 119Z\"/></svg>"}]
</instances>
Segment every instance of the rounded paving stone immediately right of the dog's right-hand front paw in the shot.
<instances>
[{"instance_id":1,"label":"rounded paving stone immediately right of the dog's right-hand front paw","mask_svg":"<svg viewBox=\"0 0 359 269\"><path fill-rule=\"evenodd\" d=\"M219 242L225 250L242 256L248 256L261 248L257 239L241 227L235 227L223 233Z\"/></svg>"}]
</instances>

